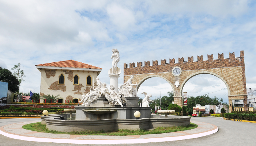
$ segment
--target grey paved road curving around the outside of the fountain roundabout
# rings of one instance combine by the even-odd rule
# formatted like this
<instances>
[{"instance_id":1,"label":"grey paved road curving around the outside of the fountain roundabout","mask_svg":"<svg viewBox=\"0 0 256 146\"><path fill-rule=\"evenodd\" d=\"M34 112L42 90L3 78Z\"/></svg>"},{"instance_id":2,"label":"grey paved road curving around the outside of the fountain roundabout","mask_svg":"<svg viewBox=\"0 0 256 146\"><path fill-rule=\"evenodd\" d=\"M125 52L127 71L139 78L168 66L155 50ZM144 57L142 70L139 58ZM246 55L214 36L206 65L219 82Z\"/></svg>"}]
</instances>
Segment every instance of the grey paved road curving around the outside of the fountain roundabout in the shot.
<instances>
[{"instance_id":1,"label":"grey paved road curving around the outside of the fountain roundabout","mask_svg":"<svg viewBox=\"0 0 256 146\"><path fill-rule=\"evenodd\" d=\"M27 119L0 119L0 127L18 122L27 122L40 120L37 118ZM255 146L256 145L256 123L237 122L224 120L222 118L191 118L191 120L211 123L218 126L219 131L201 138L187 139L172 142L155 142L155 143L139 143L139 144L122 144L122 146ZM80 146L76 144L65 143L44 143L30 142L12 139L0 135L0 146ZM104 145L110 146L110 145ZM111 145L113 146L113 145ZM115 146L115 145L114 145Z\"/></svg>"}]
</instances>

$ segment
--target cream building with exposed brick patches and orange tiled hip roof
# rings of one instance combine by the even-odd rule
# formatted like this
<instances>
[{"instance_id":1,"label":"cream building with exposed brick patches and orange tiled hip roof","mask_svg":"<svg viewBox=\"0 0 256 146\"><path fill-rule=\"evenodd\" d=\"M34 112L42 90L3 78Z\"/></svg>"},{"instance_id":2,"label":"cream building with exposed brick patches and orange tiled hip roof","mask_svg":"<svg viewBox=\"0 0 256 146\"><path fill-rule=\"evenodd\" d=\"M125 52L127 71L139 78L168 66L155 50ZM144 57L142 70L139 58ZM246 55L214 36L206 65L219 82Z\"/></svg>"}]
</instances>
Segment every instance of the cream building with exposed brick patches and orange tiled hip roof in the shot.
<instances>
[{"instance_id":1,"label":"cream building with exposed brick patches and orange tiled hip roof","mask_svg":"<svg viewBox=\"0 0 256 146\"><path fill-rule=\"evenodd\" d=\"M60 95L58 103L77 103L88 93L102 68L67 60L35 65L41 72L40 96ZM44 100L40 100L43 103Z\"/></svg>"}]
</instances>

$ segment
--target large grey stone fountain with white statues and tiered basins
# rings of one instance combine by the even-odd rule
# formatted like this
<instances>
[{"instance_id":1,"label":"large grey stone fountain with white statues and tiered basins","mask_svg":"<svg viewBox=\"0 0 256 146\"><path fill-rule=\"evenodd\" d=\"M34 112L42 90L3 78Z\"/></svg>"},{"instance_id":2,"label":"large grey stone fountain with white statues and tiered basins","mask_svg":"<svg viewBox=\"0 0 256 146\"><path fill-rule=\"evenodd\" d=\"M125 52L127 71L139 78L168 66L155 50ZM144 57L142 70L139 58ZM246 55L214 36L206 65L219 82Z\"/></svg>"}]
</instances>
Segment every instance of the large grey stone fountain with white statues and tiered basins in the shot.
<instances>
[{"instance_id":1,"label":"large grey stone fountain with white statues and tiered basins","mask_svg":"<svg viewBox=\"0 0 256 146\"><path fill-rule=\"evenodd\" d=\"M112 49L112 68L109 69L110 91L106 83L96 78L97 86L93 86L89 93L82 95L82 103L75 109L65 109L68 114L53 114L41 116L42 124L46 124L49 130L61 132L86 131L86 130L104 130L112 131L118 129L150 129L159 126L170 127L190 124L190 118L187 116L172 116L174 111L161 110L159 113L165 115L151 115L149 103L151 95L143 92L142 107L138 107L139 97L137 96L137 84L132 84L133 76L130 76L120 88L117 87L117 81L121 69L117 67L120 60L117 49ZM133 88L135 87L135 88ZM119 90L118 90L119 89ZM74 112L76 114L72 114ZM135 112L140 117L135 117ZM63 116L64 120L60 117ZM75 118L74 118L75 116Z\"/></svg>"}]
</instances>

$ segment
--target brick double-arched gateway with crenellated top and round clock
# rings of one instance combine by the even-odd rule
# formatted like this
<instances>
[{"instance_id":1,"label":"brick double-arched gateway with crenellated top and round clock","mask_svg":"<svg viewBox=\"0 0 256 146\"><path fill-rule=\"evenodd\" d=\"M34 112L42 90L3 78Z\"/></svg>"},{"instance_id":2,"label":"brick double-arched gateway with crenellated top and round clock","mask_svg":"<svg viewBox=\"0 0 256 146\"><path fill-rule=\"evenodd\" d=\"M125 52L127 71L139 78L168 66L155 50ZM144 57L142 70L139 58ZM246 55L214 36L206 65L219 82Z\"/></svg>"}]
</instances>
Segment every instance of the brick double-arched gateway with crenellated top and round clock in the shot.
<instances>
[{"instance_id":1,"label":"brick double-arched gateway with crenellated top and round clock","mask_svg":"<svg viewBox=\"0 0 256 146\"><path fill-rule=\"evenodd\" d=\"M218 59L213 59L213 54L208 55L208 60L203 60L203 55L197 56L197 61L193 61L193 56L188 57L188 61L184 62L184 58L178 58L178 63L175 59L170 59L166 63L166 59L161 60L161 65L158 61L130 63L129 68L124 64L124 82L133 75L133 83L138 83L137 91L140 85L151 77L161 77L172 86L174 93L174 104L181 106L182 104L182 89L184 84L193 76L198 74L212 74L219 77L227 87L229 97L229 112L232 111L232 100L244 100L244 110L247 108L246 95L246 80L245 80L245 65L244 51L240 51L240 57L235 57L235 53L229 53L229 58L224 59L223 53L218 54Z\"/></svg>"}]
</instances>

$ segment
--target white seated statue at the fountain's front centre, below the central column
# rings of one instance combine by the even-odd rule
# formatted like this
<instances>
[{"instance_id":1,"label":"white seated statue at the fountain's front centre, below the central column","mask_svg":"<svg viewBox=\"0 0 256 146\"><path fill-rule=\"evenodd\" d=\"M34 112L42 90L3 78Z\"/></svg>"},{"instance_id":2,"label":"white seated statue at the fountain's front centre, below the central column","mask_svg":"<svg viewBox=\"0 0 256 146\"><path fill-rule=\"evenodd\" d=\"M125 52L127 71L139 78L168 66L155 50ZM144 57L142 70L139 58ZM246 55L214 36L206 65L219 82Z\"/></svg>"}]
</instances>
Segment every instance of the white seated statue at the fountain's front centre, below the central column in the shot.
<instances>
[{"instance_id":1,"label":"white seated statue at the fountain's front centre, below the central column","mask_svg":"<svg viewBox=\"0 0 256 146\"><path fill-rule=\"evenodd\" d=\"M121 105L121 107L124 107L121 103L122 99L125 99L124 97L121 99L118 95L118 93L115 90L115 87L113 85L110 85L110 93L109 95L106 94L105 97L109 101L110 105ZM126 102L126 99L124 100Z\"/></svg>"}]
</instances>

